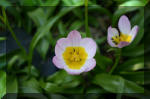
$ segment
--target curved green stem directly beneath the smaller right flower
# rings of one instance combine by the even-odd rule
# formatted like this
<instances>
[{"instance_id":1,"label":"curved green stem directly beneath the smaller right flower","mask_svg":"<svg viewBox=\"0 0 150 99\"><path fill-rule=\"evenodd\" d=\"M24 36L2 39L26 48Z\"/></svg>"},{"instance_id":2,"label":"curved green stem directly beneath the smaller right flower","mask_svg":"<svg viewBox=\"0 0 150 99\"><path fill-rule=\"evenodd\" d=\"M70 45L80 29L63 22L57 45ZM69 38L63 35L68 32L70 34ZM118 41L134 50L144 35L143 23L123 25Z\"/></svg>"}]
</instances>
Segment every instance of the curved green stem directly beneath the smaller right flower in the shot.
<instances>
[{"instance_id":1,"label":"curved green stem directly beneath the smaller right flower","mask_svg":"<svg viewBox=\"0 0 150 99\"><path fill-rule=\"evenodd\" d=\"M112 74L113 71L115 70L115 68L117 67L117 65L118 65L118 63L119 63L119 61L120 61L120 57L121 57L121 49L118 49L118 50L116 51L116 60L115 60L115 63L114 63L114 65L112 66L112 68L111 68L109 74Z\"/></svg>"}]
</instances>

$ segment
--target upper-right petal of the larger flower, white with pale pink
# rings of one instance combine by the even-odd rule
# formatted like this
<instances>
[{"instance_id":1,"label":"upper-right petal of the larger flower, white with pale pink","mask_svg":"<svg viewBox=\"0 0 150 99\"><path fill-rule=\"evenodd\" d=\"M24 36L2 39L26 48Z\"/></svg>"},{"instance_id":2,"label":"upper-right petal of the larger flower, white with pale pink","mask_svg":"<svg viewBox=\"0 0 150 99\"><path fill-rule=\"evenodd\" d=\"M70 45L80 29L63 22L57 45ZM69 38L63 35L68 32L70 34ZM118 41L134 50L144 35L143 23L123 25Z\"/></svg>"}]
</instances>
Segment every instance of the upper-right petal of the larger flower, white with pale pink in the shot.
<instances>
[{"instance_id":1,"label":"upper-right petal of the larger flower, white with pale pink","mask_svg":"<svg viewBox=\"0 0 150 99\"><path fill-rule=\"evenodd\" d=\"M84 38L80 42L80 46L85 48L88 54L88 59L93 58L96 53L96 42L91 38Z\"/></svg>"}]
</instances>

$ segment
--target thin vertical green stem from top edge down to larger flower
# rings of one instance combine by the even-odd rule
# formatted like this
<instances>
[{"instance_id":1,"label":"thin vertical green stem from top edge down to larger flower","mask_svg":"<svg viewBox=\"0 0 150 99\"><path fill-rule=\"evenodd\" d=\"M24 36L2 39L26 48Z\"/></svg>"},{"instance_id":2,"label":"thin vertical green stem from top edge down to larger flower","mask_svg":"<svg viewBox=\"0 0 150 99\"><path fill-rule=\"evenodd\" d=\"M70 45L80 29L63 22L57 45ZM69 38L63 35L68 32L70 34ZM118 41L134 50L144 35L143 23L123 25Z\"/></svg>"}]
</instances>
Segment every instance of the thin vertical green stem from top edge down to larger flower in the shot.
<instances>
[{"instance_id":1,"label":"thin vertical green stem from top edge down to larger flower","mask_svg":"<svg viewBox=\"0 0 150 99\"><path fill-rule=\"evenodd\" d=\"M85 32L87 37L91 37L88 26L88 0L85 0Z\"/></svg>"}]
</instances>

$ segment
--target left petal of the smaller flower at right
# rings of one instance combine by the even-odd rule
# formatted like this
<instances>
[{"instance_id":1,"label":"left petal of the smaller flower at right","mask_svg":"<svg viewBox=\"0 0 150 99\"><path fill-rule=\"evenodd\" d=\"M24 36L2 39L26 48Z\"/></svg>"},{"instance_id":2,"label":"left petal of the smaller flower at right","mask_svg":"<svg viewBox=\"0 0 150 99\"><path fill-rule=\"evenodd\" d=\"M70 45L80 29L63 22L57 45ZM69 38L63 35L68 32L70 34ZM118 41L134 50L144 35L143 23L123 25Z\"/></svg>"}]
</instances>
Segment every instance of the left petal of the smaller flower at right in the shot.
<instances>
[{"instance_id":1,"label":"left petal of the smaller flower at right","mask_svg":"<svg viewBox=\"0 0 150 99\"><path fill-rule=\"evenodd\" d=\"M113 43L112 41L112 37L114 36L118 36L118 30L116 28L112 28L111 26L109 26L108 30L108 35L107 35L107 42L111 47L117 47L117 45L115 43Z\"/></svg>"}]
</instances>

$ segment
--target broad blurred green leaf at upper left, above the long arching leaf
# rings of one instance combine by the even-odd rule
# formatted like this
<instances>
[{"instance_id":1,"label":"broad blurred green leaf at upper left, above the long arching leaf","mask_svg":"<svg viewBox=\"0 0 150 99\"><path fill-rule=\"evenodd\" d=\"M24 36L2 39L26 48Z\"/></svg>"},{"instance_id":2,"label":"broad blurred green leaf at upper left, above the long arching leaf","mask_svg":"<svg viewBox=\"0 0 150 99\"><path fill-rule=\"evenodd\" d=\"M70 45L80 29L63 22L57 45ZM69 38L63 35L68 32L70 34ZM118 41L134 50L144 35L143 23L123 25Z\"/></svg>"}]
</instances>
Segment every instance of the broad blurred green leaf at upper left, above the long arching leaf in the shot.
<instances>
[{"instance_id":1,"label":"broad blurred green leaf at upper left, above the long arching leaf","mask_svg":"<svg viewBox=\"0 0 150 99\"><path fill-rule=\"evenodd\" d=\"M42 8L37 8L34 11L28 12L28 15L37 27L43 26L47 21L47 15L45 15Z\"/></svg>"}]
</instances>

